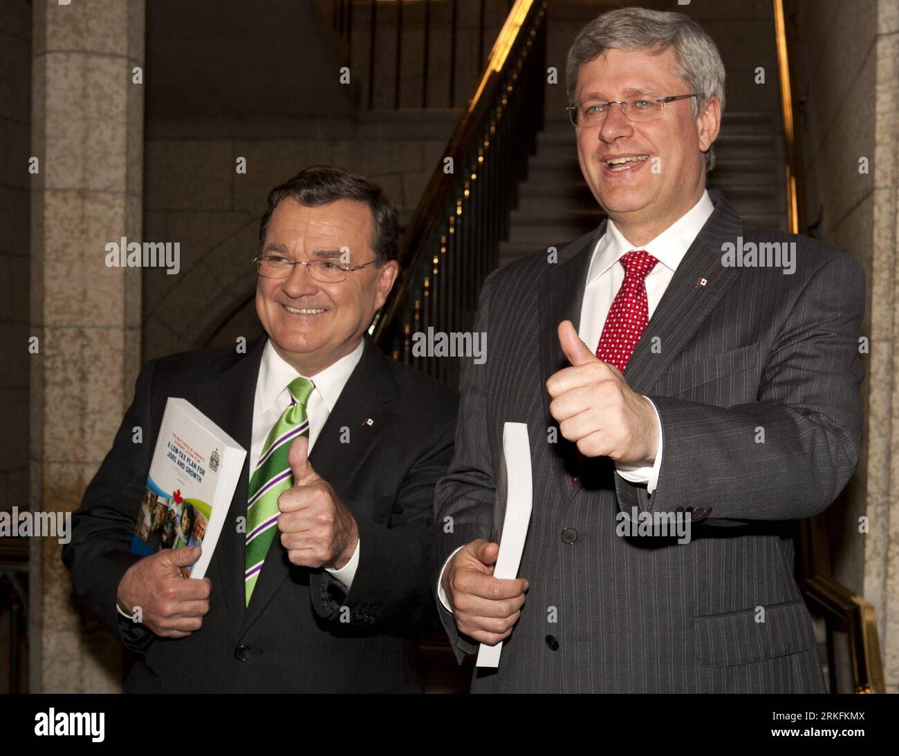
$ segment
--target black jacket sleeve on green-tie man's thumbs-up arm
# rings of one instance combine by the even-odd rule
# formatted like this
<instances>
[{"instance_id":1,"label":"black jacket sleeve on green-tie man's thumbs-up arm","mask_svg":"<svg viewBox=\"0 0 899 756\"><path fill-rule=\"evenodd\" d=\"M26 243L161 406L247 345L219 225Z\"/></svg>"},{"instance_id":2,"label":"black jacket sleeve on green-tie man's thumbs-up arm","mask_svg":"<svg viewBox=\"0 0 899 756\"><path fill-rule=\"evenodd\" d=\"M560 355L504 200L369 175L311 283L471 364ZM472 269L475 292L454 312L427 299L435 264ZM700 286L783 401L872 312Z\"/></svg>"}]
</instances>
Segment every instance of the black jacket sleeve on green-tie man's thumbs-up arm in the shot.
<instances>
[{"instance_id":1,"label":"black jacket sleeve on green-tie man's thumbs-up arm","mask_svg":"<svg viewBox=\"0 0 899 756\"><path fill-rule=\"evenodd\" d=\"M434 486L452 457L457 411L453 396L429 417L433 432L405 475L389 523L356 519L360 559L349 590L325 570L309 577L313 607L325 620L357 628L432 627L432 505Z\"/></svg>"}]
</instances>

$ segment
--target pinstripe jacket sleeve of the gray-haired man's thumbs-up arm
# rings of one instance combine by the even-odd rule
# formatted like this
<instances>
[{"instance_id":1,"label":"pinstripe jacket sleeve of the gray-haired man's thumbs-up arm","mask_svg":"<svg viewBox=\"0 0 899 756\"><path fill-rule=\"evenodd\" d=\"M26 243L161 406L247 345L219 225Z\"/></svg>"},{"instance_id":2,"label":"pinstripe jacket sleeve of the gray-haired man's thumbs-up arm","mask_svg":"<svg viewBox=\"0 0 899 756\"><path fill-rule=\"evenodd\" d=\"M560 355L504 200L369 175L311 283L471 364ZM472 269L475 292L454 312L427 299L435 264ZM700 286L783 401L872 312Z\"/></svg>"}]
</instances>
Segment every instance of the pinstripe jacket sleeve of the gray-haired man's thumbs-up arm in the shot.
<instances>
[{"instance_id":1,"label":"pinstripe jacket sleeve of the gray-haired man's thumbs-up arm","mask_svg":"<svg viewBox=\"0 0 899 756\"><path fill-rule=\"evenodd\" d=\"M620 508L740 521L823 512L859 462L864 301L862 268L841 251L798 294L757 401L724 408L648 394L662 421L658 485L647 496L616 474Z\"/></svg>"}]
</instances>

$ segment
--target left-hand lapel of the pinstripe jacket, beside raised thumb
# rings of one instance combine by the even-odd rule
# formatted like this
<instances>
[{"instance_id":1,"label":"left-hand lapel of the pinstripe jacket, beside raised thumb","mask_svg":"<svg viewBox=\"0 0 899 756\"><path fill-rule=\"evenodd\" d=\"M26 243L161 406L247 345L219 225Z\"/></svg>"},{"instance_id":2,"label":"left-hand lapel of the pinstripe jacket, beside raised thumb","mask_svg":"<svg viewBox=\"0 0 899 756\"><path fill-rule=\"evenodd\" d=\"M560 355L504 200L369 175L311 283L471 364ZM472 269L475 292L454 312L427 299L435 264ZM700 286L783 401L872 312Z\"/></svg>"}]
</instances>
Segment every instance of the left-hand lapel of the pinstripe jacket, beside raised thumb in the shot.
<instances>
[{"instance_id":1,"label":"left-hand lapel of the pinstripe jacket, beside raised thumb","mask_svg":"<svg viewBox=\"0 0 899 756\"><path fill-rule=\"evenodd\" d=\"M574 330L580 328L587 271L596 242L604 233L606 222L603 220L591 233L563 248L559 262L550 266L549 275L540 282L540 364L544 381L568 366L568 360L559 344L558 326L560 322L568 320L574 324ZM550 397L542 385L541 390L547 423L551 426L555 422L549 414ZM577 489L573 481L576 475L577 447L559 435L557 443L552 444L551 448L559 490L567 503Z\"/></svg>"}]
</instances>

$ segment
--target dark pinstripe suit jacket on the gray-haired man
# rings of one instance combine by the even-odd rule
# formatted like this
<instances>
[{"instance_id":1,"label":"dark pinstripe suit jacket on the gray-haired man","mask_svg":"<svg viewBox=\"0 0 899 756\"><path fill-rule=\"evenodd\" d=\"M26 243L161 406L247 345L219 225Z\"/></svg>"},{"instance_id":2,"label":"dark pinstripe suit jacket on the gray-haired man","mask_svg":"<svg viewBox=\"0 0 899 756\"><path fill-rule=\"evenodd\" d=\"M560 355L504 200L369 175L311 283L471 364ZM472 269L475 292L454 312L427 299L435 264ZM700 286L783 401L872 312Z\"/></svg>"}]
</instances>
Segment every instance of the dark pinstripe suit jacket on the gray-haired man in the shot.
<instances>
[{"instance_id":1,"label":"dark pinstripe suit jacket on the gray-haired man","mask_svg":"<svg viewBox=\"0 0 899 756\"><path fill-rule=\"evenodd\" d=\"M485 282L476 330L489 352L467 365L455 458L435 499L435 522L451 516L453 532L441 527L435 569L462 543L492 537L505 421L529 427L534 509L519 571L527 602L499 670L476 672L474 691L824 689L791 536L858 462L864 276L847 252L743 224L709 195L715 211L624 371L662 420L652 496L608 458L578 462L561 435L547 443L556 423L544 384L567 365L556 328L565 318L578 327L605 223L556 264L540 251ZM795 273L724 267L722 244L738 236L796 242ZM692 540L619 537L616 514L635 506L691 510ZM472 653L440 611L458 657Z\"/></svg>"}]
</instances>

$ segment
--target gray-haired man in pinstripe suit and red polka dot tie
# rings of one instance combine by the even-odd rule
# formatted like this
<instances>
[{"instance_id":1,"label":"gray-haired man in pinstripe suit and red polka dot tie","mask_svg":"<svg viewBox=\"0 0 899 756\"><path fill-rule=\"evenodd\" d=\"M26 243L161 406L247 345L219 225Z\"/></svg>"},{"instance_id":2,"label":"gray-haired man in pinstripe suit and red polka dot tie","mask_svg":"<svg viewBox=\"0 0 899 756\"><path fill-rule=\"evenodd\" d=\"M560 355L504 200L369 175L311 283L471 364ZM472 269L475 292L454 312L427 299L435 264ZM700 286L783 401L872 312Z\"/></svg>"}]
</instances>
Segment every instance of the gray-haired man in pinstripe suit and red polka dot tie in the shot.
<instances>
[{"instance_id":1,"label":"gray-haired man in pinstripe suit and red polka dot tie","mask_svg":"<svg viewBox=\"0 0 899 756\"><path fill-rule=\"evenodd\" d=\"M791 538L858 462L864 277L706 189L724 86L679 13L604 13L569 51L578 160L608 218L487 278L490 359L467 365L435 497L458 658L504 644L473 690L824 690ZM796 245L792 275L727 264L770 242ZM528 424L533 511L521 577L503 580L507 421Z\"/></svg>"}]
</instances>

